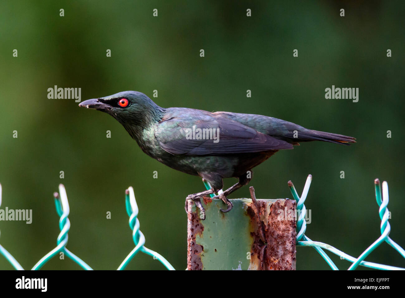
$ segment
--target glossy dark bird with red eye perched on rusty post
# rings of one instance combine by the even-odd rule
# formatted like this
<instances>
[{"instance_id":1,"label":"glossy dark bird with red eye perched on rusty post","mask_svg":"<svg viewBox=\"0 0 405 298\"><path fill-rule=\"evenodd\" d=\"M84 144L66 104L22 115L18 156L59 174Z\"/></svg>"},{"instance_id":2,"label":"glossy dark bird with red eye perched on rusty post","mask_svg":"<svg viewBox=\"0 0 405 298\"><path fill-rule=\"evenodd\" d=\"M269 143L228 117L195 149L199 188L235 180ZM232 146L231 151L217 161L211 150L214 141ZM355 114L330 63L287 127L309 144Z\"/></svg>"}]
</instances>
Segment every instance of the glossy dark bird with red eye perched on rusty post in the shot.
<instances>
[{"instance_id":1,"label":"glossy dark bird with red eye perched on rusty post","mask_svg":"<svg viewBox=\"0 0 405 298\"><path fill-rule=\"evenodd\" d=\"M209 182L211 189L192 193L185 200L186 211L187 202L193 200L203 220L205 208L201 198L218 193L224 178L237 178L236 184L213 197L226 204L226 209L220 209L222 212L229 212L233 204L228 195L247 185L253 177L252 168L277 151L307 141L356 143L354 137L306 129L269 116L163 108L138 91L88 99L79 107L113 116L147 155Z\"/></svg>"}]
</instances>

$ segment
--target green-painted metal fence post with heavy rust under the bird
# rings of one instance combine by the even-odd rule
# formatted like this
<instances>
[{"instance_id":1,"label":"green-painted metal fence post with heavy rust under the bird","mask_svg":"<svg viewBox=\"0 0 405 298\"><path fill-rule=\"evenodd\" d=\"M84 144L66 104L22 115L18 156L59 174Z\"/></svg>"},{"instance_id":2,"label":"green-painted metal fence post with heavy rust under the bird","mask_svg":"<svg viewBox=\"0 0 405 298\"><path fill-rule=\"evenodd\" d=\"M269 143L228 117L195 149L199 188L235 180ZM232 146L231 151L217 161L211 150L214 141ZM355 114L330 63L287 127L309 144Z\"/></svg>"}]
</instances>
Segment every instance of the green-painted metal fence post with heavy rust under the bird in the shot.
<instances>
[{"instance_id":1,"label":"green-painted metal fence post with heavy rust under the bird","mask_svg":"<svg viewBox=\"0 0 405 298\"><path fill-rule=\"evenodd\" d=\"M295 200L204 198L206 219L188 202L188 270L295 270ZM203 204L204 204L203 203Z\"/></svg>"}]
</instances>

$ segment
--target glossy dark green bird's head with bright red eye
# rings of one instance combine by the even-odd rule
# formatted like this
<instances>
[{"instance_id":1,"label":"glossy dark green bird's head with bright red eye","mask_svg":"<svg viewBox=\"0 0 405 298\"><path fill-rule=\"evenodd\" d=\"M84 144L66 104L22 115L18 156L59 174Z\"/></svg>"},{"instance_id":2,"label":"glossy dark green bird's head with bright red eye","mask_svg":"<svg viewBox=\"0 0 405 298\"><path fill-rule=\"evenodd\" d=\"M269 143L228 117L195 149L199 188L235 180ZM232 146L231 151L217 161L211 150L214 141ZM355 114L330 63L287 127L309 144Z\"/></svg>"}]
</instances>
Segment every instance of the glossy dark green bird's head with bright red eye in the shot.
<instances>
[{"instance_id":1,"label":"glossy dark green bird's head with bright red eye","mask_svg":"<svg viewBox=\"0 0 405 298\"><path fill-rule=\"evenodd\" d=\"M110 114L121 123L132 137L136 127L145 128L153 121L159 121L164 109L148 96L138 91L123 91L113 95L88 99L79 107L96 109Z\"/></svg>"}]
</instances>

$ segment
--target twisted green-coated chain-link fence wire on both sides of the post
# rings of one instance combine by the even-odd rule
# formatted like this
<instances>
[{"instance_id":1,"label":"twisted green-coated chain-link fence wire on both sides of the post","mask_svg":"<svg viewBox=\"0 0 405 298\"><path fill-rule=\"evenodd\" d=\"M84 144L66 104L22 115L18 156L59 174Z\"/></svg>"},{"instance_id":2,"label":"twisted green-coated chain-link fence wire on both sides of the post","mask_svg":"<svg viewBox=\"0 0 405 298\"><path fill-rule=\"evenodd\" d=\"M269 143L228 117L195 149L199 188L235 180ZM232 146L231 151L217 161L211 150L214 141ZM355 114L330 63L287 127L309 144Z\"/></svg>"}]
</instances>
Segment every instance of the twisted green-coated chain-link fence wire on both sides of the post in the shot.
<instances>
[{"instance_id":1,"label":"twisted green-coated chain-link fence wire on both sides of the post","mask_svg":"<svg viewBox=\"0 0 405 298\"><path fill-rule=\"evenodd\" d=\"M381 219L381 225L380 225L380 232L381 236L375 240L363 253L360 254L360 256L352 257L351 255L348 255L347 253L344 253L343 251L340 251L339 249L336 249L335 247L323 243L323 242L318 242L318 241L312 241L305 235L305 231L307 229L307 223L305 221L305 214L306 214L306 208L304 205L305 199L307 198L308 191L309 191L309 186L311 185L312 181L312 176L309 175L307 178L307 181L305 182L305 186L303 189L303 193L301 194L301 197L298 196L298 193L295 190L294 184L292 184L291 181L288 181L288 186L290 187L290 191L292 193L292 196L297 202L296 209L298 211L298 219L297 219L297 236L296 236L296 244L297 246L309 246L313 247L326 261L326 263L333 269L333 270L339 270L335 263L330 259L330 257L325 253L323 249L326 249L335 255L339 255L342 259L345 259L349 262L352 262L348 270L354 270L358 266L365 266L369 268L374 268L374 269L379 269L379 270L405 270L405 268L399 268L399 267L394 267L394 266L388 266L384 264L377 264L373 262L366 262L364 259L375 249L377 248L380 244L383 242L387 242L391 247L393 247L396 251L398 251L402 257L405 258L405 251L402 247L400 247L396 242L394 242L388 235L390 234L391 231L391 226L390 223L388 222L389 219L389 211L388 211L388 202L389 202L389 197L388 197L388 183L384 181L381 184L378 179L375 179L375 198L377 201L377 204L379 206L379 217ZM205 187L207 189L210 189L211 186L209 183L205 180L203 180ZM211 195L212 197L213 195ZM92 268L87 265L82 259L77 257L74 253L70 252L66 248L66 244L68 243L68 232L70 229L70 221L69 221L69 202L68 202L68 197L66 195L66 189L63 184L59 184L59 193L54 193L53 194L54 200L55 200L55 208L56 212L58 213L60 219L59 219L59 228L60 228L60 234L57 238L57 246L52 249L49 253L47 253L45 256L43 256L35 265L32 267L31 270L38 270L40 269L44 264L46 264L50 259L52 259L55 255L57 255L60 252L63 252L66 254L70 259L72 259L74 262L79 264L83 269L85 270L92 270ZM0 184L0 206L2 203L2 187ZM125 206L126 206L126 211L129 216L129 226L130 229L132 230L132 240L134 241L135 248L127 255L127 257L124 259L124 261L121 263L121 265L118 267L117 270L124 270L126 266L129 264L129 262L132 260L132 258L139 253L139 251L152 256L154 259L158 259L168 270L175 270L173 266L159 253L152 251L148 248L145 247L145 236L140 230L140 223L138 219L138 205L136 204L136 199L134 195L134 189L132 187L129 187L125 191ZM17 260L6 250L2 245L0 244L0 253L10 262L11 265L16 270L24 270L23 267L17 262Z\"/></svg>"}]
</instances>

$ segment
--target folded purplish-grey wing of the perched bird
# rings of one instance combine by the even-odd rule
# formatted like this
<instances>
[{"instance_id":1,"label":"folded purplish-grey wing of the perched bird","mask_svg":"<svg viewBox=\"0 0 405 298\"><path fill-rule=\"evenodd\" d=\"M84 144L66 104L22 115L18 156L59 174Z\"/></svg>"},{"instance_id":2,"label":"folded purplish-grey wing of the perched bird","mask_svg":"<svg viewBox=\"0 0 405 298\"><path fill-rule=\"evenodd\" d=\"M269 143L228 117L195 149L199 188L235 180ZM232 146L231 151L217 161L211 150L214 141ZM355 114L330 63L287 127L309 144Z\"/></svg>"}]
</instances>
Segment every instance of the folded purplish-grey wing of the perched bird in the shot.
<instances>
[{"instance_id":1,"label":"folded purplish-grey wing of the perched bird","mask_svg":"<svg viewBox=\"0 0 405 298\"><path fill-rule=\"evenodd\" d=\"M165 151L174 155L222 155L292 149L292 145L286 141L226 117L209 114L200 113L193 117L176 113L175 117L167 117L159 122L155 131L156 139Z\"/></svg>"}]
</instances>

